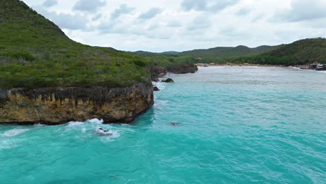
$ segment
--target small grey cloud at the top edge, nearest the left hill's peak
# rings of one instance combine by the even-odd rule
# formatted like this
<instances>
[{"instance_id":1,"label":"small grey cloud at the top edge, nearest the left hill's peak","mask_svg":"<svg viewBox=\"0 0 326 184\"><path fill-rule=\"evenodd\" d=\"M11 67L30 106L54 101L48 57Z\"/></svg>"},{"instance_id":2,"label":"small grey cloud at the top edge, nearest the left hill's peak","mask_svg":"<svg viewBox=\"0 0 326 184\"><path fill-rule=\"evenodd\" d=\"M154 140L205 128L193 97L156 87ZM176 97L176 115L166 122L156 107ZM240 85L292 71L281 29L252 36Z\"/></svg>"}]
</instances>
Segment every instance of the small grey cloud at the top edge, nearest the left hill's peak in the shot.
<instances>
[{"instance_id":1,"label":"small grey cloud at the top edge, nearest the left hill's peak","mask_svg":"<svg viewBox=\"0 0 326 184\"><path fill-rule=\"evenodd\" d=\"M101 0L79 0L73 7L74 10L94 13L98 8L105 6L106 2Z\"/></svg>"}]
</instances>

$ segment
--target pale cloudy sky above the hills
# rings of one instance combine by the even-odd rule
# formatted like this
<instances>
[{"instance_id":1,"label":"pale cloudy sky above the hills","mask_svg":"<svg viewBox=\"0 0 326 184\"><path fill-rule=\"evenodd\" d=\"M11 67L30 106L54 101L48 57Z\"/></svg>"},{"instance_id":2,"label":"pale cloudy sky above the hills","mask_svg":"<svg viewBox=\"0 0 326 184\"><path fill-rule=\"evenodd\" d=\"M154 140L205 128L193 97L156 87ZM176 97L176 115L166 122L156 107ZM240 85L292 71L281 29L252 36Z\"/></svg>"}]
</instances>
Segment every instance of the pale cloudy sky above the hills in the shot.
<instances>
[{"instance_id":1,"label":"pale cloudy sky above the hills","mask_svg":"<svg viewBox=\"0 0 326 184\"><path fill-rule=\"evenodd\" d=\"M326 37L326 0L23 0L73 40L151 52Z\"/></svg>"}]
</instances>

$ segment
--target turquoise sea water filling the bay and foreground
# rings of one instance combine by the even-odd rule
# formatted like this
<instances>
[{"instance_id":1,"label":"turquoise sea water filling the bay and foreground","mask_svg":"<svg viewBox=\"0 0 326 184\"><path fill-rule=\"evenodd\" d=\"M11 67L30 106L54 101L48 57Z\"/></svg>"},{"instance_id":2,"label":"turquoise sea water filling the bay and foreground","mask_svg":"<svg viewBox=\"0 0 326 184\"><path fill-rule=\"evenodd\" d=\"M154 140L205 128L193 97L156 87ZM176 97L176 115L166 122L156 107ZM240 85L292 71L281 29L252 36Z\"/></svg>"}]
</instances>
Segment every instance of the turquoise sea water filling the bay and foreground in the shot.
<instances>
[{"instance_id":1,"label":"turquoise sea water filling the bay and foreground","mask_svg":"<svg viewBox=\"0 0 326 184\"><path fill-rule=\"evenodd\" d=\"M171 77L134 125L0 125L0 183L326 183L325 72Z\"/></svg>"}]
</instances>

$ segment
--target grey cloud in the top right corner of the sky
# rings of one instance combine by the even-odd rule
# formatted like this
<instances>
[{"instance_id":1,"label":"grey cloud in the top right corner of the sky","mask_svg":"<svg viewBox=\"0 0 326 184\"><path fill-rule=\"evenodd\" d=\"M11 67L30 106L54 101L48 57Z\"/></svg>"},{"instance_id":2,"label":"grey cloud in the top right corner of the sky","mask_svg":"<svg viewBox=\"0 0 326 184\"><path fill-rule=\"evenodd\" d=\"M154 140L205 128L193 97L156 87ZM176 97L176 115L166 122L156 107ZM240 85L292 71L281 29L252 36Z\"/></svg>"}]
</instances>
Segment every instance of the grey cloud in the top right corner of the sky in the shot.
<instances>
[{"instance_id":1,"label":"grey cloud in the top right corner of the sky","mask_svg":"<svg viewBox=\"0 0 326 184\"><path fill-rule=\"evenodd\" d=\"M290 10L277 13L271 20L276 22L301 22L326 17L326 1L292 0Z\"/></svg>"}]
</instances>

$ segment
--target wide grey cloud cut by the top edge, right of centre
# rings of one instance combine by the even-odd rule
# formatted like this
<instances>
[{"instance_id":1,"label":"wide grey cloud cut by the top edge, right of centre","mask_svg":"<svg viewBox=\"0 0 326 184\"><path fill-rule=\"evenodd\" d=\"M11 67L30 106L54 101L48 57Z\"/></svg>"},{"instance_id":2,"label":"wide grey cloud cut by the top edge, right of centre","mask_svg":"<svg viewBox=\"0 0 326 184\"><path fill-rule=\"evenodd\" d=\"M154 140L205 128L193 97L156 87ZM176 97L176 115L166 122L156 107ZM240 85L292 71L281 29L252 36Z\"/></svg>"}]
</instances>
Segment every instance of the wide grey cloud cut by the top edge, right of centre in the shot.
<instances>
[{"instance_id":1,"label":"wide grey cloud cut by the top edge, right of centre","mask_svg":"<svg viewBox=\"0 0 326 184\"><path fill-rule=\"evenodd\" d=\"M186 11L196 10L218 12L228 6L234 5L238 1L239 0L215 0L212 2L210 0L183 0L181 7Z\"/></svg>"}]
</instances>

